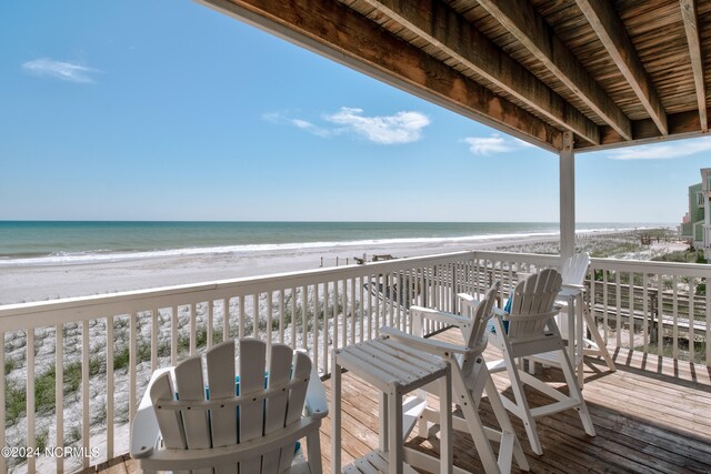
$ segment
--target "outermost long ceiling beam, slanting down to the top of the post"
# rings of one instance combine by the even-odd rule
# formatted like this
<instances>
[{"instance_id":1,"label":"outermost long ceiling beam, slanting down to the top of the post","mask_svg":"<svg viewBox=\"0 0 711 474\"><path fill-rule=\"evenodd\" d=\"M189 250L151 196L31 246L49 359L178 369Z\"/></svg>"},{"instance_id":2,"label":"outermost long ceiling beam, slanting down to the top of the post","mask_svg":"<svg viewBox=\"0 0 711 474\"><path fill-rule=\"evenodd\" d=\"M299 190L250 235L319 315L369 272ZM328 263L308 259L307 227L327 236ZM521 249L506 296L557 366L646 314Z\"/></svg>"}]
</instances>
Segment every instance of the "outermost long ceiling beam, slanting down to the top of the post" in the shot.
<instances>
[{"instance_id":1,"label":"outermost long ceiling beam, slanting down to the top of the post","mask_svg":"<svg viewBox=\"0 0 711 474\"><path fill-rule=\"evenodd\" d=\"M294 44L543 149L562 132L333 0L198 0Z\"/></svg>"}]
</instances>

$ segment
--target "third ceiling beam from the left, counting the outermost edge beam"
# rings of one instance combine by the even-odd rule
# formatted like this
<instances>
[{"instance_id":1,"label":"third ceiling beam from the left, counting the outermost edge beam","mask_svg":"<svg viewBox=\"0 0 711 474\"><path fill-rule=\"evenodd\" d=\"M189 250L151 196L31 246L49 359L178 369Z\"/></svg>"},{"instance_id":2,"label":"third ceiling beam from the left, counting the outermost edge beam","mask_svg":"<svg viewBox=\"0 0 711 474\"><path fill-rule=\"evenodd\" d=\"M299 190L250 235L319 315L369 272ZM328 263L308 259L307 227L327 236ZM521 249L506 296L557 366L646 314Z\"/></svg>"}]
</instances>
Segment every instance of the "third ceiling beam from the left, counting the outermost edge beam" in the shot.
<instances>
[{"instance_id":1,"label":"third ceiling beam from the left, counting the outermost edge beam","mask_svg":"<svg viewBox=\"0 0 711 474\"><path fill-rule=\"evenodd\" d=\"M602 90L530 0L478 0L535 58L620 135L632 139L630 120Z\"/></svg>"}]
</instances>

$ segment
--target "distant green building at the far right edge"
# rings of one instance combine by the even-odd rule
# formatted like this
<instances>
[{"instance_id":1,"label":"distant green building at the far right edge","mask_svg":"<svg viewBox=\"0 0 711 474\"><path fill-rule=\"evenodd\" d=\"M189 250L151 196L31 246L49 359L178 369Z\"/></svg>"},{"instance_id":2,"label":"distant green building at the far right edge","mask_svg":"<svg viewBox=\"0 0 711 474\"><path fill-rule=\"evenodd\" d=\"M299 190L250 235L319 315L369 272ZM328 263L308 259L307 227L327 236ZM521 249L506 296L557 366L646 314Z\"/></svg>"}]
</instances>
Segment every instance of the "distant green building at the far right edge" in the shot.
<instances>
[{"instance_id":1,"label":"distant green building at the far right edge","mask_svg":"<svg viewBox=\"0 0 711 474\"><path fill-rule=\"evenodd\" d=\"M701 169L701 182L689 186L689 212L683 216L681 238L701 250L711 260L711 168Z\"/></svg>"}]
</instances>

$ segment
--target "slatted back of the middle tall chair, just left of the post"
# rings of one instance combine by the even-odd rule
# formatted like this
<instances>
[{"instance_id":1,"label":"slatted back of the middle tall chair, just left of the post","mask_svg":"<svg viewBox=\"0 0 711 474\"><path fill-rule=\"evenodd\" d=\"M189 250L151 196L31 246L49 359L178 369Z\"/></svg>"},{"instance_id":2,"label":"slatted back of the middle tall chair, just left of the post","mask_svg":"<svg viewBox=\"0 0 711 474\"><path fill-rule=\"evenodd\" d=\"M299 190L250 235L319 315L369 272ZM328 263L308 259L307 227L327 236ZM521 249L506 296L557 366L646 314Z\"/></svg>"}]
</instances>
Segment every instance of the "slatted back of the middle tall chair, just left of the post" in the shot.
<instances>
[{"instance_id":1,"label":"slatted back of the middle tall chair, just left of the post","mask_svg":"<svg viewBox=\"0 0 711 474\"><path fill-rule=\"evenodd\" d=\"M508 316L508 335L512 339L539 336L545 330L558 292L561 274L545 269L528 276L515 286Z\"/></svg>"}]
</instances>

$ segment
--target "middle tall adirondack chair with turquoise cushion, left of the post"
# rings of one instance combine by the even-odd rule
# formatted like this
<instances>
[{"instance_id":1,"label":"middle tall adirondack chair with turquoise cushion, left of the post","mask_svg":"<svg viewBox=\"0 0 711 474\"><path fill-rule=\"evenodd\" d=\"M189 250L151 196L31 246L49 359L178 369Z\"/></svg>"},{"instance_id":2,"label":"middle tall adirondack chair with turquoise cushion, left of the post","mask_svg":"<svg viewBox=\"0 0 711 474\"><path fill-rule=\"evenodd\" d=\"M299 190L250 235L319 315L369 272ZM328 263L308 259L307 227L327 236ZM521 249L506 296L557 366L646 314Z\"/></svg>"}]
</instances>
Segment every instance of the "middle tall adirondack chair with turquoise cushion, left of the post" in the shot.
<instances>
[{"instance_id":1,"label":"middle tall adirondack chair with turquoise cushion, left of the post","mask_svg":"<svg viewBox=\"0 0 711 474\"><path fill-rule=\"evenodd\" d=\"M511 313L495 312L494 340L503 359L488 364L491 372L507 371L514 400L502 397L503 404L523 422L531 448L543 454L538 437L535 418L574 409L580 415L585 433L595 435L585 401L575 380L568 351L560 336L553 304L561 290L562 279L558 271L547 269L519 282L511 301ZM505 323L505 324L504 324ZM553 352L565 377L569 394L525 373L517 360L535 354ZM523 386L529 385L555 400L548 405L530 407Z\"/></svg>"}]
</instances>

